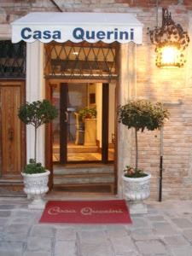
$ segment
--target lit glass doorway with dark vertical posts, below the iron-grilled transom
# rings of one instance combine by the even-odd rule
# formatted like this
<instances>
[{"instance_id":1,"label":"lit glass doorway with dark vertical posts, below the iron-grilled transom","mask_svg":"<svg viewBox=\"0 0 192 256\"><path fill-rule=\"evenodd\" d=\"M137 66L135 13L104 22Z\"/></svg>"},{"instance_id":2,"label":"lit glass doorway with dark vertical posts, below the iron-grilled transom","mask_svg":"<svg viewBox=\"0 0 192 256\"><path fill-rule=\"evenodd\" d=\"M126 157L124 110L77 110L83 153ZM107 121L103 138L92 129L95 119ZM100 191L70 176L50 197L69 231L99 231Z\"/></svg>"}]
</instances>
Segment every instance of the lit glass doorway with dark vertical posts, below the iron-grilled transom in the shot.
<instances>
[{"instance_id":1,"label":"lit glass doorway with dark vertical posts, below the iron-grilled transom","mask_svg":"<svg viewBox=\"0 0 192 256\"><path fill-rule=\"evenodd\" d=\"M81 82L50 86L52 103L59 110L52 126L53 162L113 163L115 84Z\"/></svg>"}]
</instances>

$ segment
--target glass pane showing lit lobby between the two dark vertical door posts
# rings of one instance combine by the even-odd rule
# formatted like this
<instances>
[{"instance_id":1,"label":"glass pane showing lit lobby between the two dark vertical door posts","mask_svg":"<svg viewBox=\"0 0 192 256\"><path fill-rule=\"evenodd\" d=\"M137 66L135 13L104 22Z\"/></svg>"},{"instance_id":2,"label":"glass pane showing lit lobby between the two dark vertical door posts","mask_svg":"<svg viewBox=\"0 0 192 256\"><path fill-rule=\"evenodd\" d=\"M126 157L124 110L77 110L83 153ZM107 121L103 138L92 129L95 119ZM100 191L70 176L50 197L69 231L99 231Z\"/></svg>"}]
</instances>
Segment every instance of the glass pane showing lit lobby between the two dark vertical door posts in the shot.
<instances>
[{"instance_id":1,"label":"glass pane showing lit lobby between the two dark vertical door posts","mask_svg":"<svg viewBox=\"0 0 192 256\"><path fill-rule=\"evenodd\" d=\"M102 160L96 141L96 84L68 84L67 161Z\"/></svg>"}]
</instances>

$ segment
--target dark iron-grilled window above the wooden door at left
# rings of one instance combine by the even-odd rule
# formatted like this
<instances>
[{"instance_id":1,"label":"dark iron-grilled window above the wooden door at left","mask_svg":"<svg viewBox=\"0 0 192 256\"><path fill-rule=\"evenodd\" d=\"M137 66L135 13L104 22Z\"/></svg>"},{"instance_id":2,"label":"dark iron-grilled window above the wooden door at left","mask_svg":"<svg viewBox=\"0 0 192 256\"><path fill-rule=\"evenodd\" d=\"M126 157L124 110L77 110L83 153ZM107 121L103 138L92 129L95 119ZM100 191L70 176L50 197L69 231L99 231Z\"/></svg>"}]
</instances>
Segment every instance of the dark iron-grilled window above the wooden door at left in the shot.
<instances>
[{"instance_id":1,"label":"dark iron-grilled window above the wooden door at left","mask_svg":"<svg viewBox=\"0 0 192 256\"><path fill-rule=\"evenodd\" d=\"M0 41L0 78L26 77L26 43Z\"/></svg>"}]
</instances>

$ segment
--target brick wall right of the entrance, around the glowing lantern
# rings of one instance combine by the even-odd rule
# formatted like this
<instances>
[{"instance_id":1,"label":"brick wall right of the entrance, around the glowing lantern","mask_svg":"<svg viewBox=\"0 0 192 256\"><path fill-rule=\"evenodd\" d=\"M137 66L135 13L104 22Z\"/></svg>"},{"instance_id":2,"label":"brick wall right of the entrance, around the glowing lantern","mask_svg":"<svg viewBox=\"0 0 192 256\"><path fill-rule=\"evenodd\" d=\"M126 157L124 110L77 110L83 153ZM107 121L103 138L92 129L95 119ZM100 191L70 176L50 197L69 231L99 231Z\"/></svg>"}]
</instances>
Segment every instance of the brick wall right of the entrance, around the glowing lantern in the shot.
<instances>
[{"instance_id":1,"label":"brick wall right of the entrance, around the glowing lantern","mask_svg":"<svg viewBox=\"0 0 192 256\"><path fill-rule=\"evenodd\" d=\"M169 7L172 18L189 29L189 15L183 6ZM139 20L147 27L153 27L155 15L149 11L139 13ZM160 24L159 24L160 25ZM164 172L163 199L191 199L192 184L189 160L192 148L192 95L189 78L190 51L186 50L187 63L183 68L160 69L155 67L154 46L148 37L143 45L137 46L137 97L166 102L171 116L164 128ZM190 46L191 47L191 46ZM189 84L188 84L189 83ZM188 85L187 85L188 84ZM144 132L141 136L140 166L152 173L152 196L158 198L160 131ZM133 157L134 158L134 157Z\"/></svg>"}]
</instances>

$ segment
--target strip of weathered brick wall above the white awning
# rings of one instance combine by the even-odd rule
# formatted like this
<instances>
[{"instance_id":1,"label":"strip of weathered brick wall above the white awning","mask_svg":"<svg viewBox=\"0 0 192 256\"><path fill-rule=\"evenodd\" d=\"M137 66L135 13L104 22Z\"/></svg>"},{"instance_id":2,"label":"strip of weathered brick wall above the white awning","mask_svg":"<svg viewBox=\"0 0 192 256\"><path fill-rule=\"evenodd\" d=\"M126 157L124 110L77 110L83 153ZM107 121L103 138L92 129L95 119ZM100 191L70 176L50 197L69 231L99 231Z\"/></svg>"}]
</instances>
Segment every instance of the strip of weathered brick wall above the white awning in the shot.
<instances>
[{"instance_id":1,"label":"strip of weathered brick wall above the white awning","mask_svg":"<svg viewBox=\"0 0 192 256\"><path fill-rule=\"evenodd\" d=\"M57 8L51 0L1 0L0 14L6 14L5 19L9 22L15 20L18 16L25 15L32 11L106 11L106 12L127 12L130 9L153 9L156 0L55 0ZM185 6L192 10L192 1L190 0L159 0L160 7L177 7L183 9Z\"/></svg>"}]
</instances>

